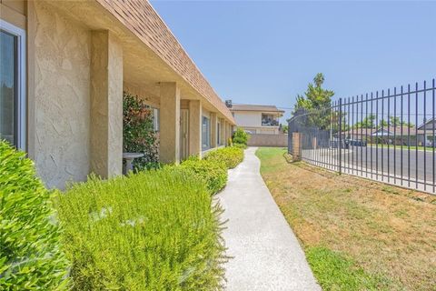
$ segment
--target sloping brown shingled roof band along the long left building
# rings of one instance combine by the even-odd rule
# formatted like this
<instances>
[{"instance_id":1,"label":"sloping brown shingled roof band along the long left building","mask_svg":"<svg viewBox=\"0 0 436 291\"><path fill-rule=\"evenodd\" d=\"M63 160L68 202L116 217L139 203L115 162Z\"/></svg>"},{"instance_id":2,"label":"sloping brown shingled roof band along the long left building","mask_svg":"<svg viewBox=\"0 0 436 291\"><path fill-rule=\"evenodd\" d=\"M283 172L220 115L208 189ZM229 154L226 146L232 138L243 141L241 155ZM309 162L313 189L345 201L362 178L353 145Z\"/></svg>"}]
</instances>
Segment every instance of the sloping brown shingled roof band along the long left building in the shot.
<instances>
[{"instance_id":1,"label":"sloping brown shingled roof band along the long left building","mask_svg":"<svg viewBox=\"0 0 436 291\"><path fill-rule=\"evenodd\" d=\"M234 123L233 116L221 98L184 51L168 26L148 1L97 0L121 23L148 45L156 55L193 86L218 111Z\"/></svg>"}]
</instances>

